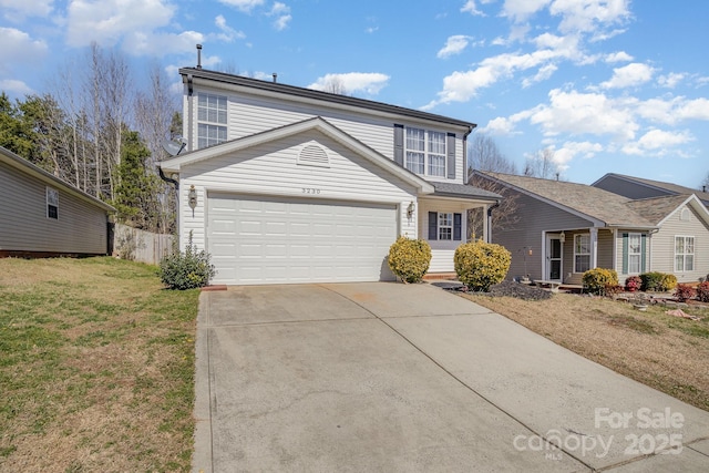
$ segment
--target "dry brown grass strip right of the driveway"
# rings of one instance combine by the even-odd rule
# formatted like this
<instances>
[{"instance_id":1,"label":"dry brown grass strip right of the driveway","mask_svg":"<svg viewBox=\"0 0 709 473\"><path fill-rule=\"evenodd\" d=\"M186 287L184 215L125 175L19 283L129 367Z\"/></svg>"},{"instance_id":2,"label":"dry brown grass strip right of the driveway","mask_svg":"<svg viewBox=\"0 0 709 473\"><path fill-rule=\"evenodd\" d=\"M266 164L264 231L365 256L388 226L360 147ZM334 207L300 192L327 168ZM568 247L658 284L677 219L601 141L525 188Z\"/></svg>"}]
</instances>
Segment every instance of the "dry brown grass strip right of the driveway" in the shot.
<instances>
[{"instance_id":1,"label":"dry brown grass strip right of the driveway","mask_svg":"<svg viewBox=\"0 0 709 473\"><path fill-rule=\"evenodd\" d=\"M463 295L578 354L709 411L709 317L687 320L650 306L558 294L548 300Z\"/></svg>"}]
</instances>

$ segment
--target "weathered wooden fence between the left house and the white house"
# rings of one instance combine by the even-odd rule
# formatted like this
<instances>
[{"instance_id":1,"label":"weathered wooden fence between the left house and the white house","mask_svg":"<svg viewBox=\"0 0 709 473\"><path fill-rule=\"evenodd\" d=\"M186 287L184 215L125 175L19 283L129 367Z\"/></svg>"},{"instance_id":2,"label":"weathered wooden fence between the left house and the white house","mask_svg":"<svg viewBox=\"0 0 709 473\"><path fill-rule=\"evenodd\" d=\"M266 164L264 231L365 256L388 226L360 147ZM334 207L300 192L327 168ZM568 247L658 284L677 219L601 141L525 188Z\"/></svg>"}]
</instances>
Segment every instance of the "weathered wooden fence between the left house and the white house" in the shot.
<instances>
[{"instance_id":1,"label":"weathered wooden fence between the left house and the white house","mask_svg":"<svg viewBox=\"0 0 709 473\"><path fill-rule=\"evenodd\" d=\"M157 265L173 250L173 235L152 234L127 225L116 224L113 238L114 255L132 261Z\"/></svg>"}]
</instances>

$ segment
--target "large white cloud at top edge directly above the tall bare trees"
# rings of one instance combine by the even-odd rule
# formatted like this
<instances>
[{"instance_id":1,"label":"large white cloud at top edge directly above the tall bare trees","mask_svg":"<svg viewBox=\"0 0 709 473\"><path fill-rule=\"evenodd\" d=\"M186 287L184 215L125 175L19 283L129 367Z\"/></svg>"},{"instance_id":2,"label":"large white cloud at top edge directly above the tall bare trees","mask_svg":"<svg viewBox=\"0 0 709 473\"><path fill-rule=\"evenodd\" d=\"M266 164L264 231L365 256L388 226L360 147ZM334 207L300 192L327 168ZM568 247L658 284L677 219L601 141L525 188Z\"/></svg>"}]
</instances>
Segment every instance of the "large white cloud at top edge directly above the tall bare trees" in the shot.
<instances>
[{"instance_id":1,"label":"large white cloud at top edge directly above the tall bare trees","mask_svg":"<svg viewBox=\"0 0 709 473\"><path fill-rule=\"evenodd\" d=\"M68 8L66 42L84 47L95 41L111 47L127 34L150 37L154 29L169 23L174 11L175 7L164 0L72 0ZM161 52L158 48L152 51Z\"/></svg>"}]
</instances>

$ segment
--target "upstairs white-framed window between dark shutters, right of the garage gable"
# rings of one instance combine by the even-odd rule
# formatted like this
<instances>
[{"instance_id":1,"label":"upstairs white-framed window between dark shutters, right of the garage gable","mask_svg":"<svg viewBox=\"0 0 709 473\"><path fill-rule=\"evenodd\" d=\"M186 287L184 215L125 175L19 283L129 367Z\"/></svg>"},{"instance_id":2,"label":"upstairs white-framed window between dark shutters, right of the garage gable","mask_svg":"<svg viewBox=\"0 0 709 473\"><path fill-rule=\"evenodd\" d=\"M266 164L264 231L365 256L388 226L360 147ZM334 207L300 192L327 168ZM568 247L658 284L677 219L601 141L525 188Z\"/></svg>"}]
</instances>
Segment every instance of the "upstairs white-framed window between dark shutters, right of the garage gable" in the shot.
<instances>
[{"instance_id":1,"label":"upstairs white-framed window between dark shutters, right of the garage gable","mask_svg":"<svg viewBox=\"0 0 709 473\"><path fill-rule=\"evenodd\" d=\"M445 146L443 132L407 127L404 166L415 174L445 177Z\"/></svg>"}]
</instances>

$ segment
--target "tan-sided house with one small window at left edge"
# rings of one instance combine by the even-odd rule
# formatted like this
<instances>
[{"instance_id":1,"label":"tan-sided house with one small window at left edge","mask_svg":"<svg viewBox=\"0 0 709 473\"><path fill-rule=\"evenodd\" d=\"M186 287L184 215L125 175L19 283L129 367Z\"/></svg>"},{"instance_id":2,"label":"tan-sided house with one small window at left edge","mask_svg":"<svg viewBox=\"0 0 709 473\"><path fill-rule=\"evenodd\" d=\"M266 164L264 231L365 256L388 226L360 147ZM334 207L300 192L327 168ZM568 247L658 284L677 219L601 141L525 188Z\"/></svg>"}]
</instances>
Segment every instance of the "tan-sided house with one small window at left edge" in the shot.
<instances>
[{"instance_id":1,"label":"tan-sided house with one small window at left edge","mask_svg":"<svg viewBox=\"0 0 709 473\"><path fill-rule=\"evenodd\" d=\"M110 205L0 147L0 256L109 251Z\"/></svg>"}]
</instances>

